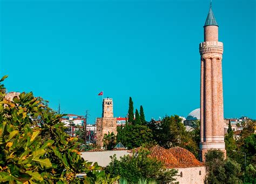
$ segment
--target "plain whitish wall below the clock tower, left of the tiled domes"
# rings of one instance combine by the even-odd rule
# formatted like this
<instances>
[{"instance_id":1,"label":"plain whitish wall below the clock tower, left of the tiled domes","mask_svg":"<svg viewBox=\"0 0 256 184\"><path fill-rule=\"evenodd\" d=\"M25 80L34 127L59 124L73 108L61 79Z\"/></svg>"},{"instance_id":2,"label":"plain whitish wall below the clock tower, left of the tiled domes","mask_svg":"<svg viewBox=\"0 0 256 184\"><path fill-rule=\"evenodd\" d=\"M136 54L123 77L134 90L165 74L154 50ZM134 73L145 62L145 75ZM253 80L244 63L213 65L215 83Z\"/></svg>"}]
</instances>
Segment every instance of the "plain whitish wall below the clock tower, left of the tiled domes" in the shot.
<instances>
[{"instance_id":1,"label":"plain whitish wall below the clock tower, left of the tiled domes","mask_svg":"<svg viewBox=\"0 0 256 184\"><path fill-rule=\"evenodd\" d=\"M120 156L129 155L127 150L120 151L103 151L103 152L82 152L82 158L89 162L98 162L99 166L106 167L111 162L110 156L116 154L117 159Z\"/></svg>"}]
</instances>

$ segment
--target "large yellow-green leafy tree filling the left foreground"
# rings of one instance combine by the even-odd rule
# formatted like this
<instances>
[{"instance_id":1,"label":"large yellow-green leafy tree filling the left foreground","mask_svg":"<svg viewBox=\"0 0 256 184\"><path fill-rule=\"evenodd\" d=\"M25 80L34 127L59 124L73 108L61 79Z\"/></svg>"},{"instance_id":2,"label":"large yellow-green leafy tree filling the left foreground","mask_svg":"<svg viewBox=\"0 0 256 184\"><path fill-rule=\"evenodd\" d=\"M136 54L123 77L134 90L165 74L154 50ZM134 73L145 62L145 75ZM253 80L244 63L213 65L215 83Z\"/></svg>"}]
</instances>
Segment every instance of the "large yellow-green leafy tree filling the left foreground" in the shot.
<instances>
[{"instance_id":1,"label":"large yellow-green leafy tree filling the left foreground","mask_svg":"<svg viewBox=\"0 0 256 184\"><path fill-rule=\"evenodd\" d=\"M1 80L3 81L3 80ZM0 88L0 182L82 182L77 173L94 175L102 168L85 162L56 114L32 92L13 101ZM92 165L92 166L91 166Z\"/></svg>"}]
</instances>

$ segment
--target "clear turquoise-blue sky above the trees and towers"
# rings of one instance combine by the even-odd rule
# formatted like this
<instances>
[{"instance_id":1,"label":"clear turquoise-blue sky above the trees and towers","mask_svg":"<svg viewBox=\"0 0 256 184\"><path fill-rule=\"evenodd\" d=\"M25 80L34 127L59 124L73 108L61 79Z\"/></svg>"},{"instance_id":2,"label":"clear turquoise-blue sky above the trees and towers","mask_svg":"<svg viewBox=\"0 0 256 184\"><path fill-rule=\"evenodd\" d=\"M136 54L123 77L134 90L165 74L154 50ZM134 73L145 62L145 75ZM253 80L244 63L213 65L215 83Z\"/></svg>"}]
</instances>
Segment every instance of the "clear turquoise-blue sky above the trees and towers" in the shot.
<instances>
[{"instance_id":1,"label":"clear turquoise-blue sky above the trees and towers","mask_svg":"<svg viewBox=\"0 0 256 184\"><path fill-rule=\"evenodd\" d=\"M1 1L0 74L62 112L124 117L129 97L146 119L199 108L200 54L209 9L197 1ZM255 1L213 1L224 43L224 116L256 119Z\"/></svg>"}]
</instances>

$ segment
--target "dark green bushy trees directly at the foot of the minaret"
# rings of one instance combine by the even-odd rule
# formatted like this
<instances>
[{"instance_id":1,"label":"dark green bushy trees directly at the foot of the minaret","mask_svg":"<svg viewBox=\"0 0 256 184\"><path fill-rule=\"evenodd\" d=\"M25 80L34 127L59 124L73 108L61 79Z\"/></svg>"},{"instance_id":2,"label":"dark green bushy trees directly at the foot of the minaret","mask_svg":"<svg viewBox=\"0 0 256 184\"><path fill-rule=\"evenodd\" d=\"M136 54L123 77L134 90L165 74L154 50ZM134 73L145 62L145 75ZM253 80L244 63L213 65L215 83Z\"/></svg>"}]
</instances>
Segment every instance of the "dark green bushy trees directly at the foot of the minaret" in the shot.
<instances>
[{"instance_id":1,"label":"dark green bushy trees directly at the foot of the minaret","mask_svg":"<svg viewBox=\"0 0 256 184\"><path fill-rule=\"evenodd\" d=\"M207 183L239 183L241 166L231 159L224 160L219 149L210 149L205 154Z\"/></svg>"}]
</instances>

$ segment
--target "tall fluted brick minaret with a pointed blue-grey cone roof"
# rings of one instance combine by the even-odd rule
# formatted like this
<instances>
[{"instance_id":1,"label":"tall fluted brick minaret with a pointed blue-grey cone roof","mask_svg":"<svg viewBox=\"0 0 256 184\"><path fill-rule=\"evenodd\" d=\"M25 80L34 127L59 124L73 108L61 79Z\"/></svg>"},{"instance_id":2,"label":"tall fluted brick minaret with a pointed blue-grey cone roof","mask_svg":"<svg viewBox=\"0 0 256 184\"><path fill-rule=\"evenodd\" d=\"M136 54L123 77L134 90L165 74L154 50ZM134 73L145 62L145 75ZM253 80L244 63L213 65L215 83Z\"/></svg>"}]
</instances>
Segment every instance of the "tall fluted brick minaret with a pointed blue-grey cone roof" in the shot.
<instances>
[{"instance_id":1,"label":"tall fluted brick minaret with a pointed blue-grey cone roof","mask_svg":"<svg viewBox=\"0 0 256 184\"><path fill-rule=\"evenodd\" d=\"M204 42L199 44L201 55L200 88L200 160L208 149L221 149L224 142L223 79L221 60L223 43L218 41L219 26L212 12L212 3L204 25Z\"/></svg>"}]
</instances>

